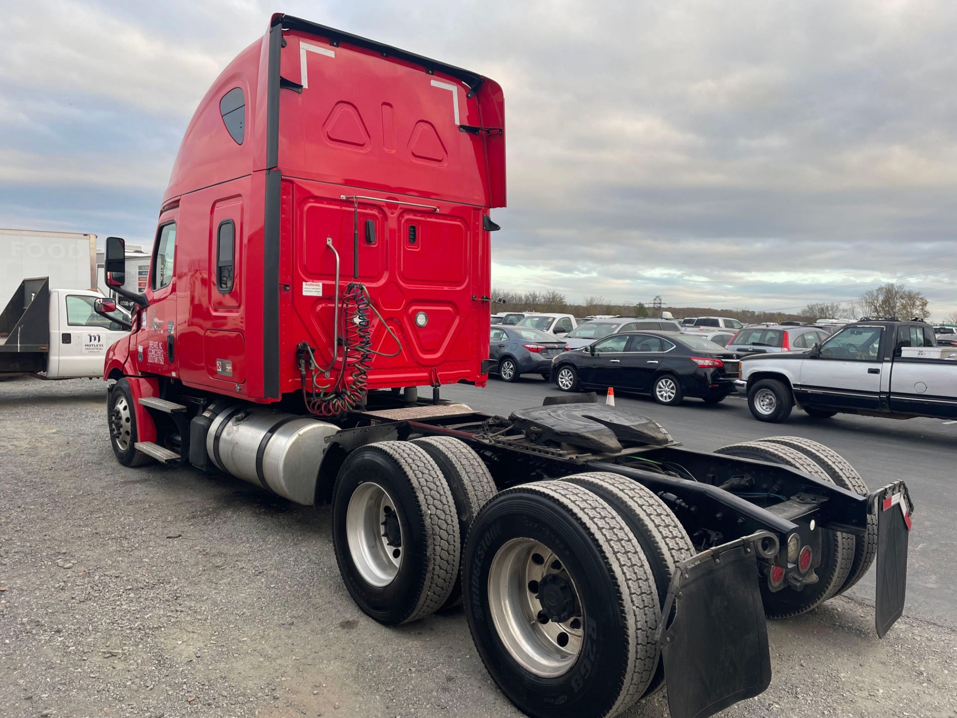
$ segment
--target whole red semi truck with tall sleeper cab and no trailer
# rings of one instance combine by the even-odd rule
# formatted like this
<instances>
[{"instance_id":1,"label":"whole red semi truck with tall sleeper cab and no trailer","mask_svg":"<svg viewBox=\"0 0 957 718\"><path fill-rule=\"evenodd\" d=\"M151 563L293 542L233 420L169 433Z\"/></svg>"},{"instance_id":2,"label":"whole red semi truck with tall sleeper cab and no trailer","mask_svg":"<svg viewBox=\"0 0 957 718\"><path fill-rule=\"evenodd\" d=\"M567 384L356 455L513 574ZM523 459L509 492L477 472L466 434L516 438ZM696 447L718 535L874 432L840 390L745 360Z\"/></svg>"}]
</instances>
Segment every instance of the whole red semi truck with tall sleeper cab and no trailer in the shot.
<instances>
[{"instance_id":1,"label":"whole red semi truck with tall sleeper cab and no trailer","mask_svg":"<svg viewBox=\"0 0 957 718\"><path fill-rule=\"evenodd\" d=\"M189 123L145 293L118 289L136 311L104 372L117 459L331 503L363 611L464 603L529 715L610 716L666 683L675 718L757 695L766 616L875 557L882 636L904 601L903 482L870 491L800 438L687 450L593 395L508 417L441 399L489 369L504 142L494 80L274 15ZM123 255L110 237L111 286Z\"/></svg>"}]
</instances>

